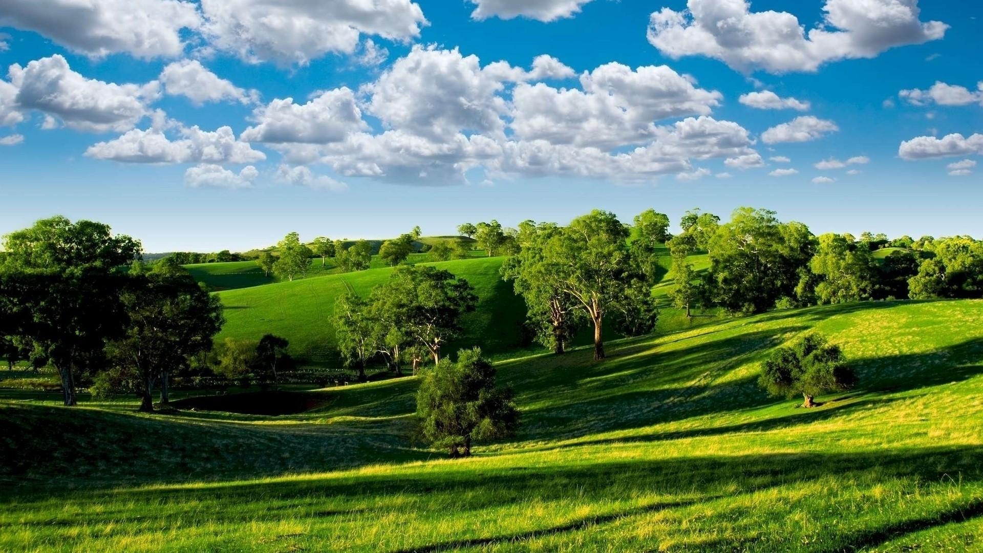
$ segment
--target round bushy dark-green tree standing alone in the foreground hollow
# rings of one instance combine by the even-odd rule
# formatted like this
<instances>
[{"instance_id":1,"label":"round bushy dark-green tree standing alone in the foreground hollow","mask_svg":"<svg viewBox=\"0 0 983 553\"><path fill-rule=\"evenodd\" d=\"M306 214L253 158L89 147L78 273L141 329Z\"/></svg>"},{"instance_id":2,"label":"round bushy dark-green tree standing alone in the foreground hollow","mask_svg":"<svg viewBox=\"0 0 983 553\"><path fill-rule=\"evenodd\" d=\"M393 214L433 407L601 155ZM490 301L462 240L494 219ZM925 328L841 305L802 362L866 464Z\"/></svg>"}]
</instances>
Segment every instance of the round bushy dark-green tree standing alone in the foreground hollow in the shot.
<instances>
[{"instance_id":1,"label":"round bushy dark-green tree standing alone in the foreground hollow","mask_svg":"<svg viewBox=\"0 0 983 553\"><path fill-rule=\"evenodd\" d=\"M519 410L509 388L495 387L495 369L482 350L462 349L457 362L443 360L424 373L417 392L417 415L424 436L451 458L468 457L481 440L511 435Z\"/></svg>"}]
</instances>

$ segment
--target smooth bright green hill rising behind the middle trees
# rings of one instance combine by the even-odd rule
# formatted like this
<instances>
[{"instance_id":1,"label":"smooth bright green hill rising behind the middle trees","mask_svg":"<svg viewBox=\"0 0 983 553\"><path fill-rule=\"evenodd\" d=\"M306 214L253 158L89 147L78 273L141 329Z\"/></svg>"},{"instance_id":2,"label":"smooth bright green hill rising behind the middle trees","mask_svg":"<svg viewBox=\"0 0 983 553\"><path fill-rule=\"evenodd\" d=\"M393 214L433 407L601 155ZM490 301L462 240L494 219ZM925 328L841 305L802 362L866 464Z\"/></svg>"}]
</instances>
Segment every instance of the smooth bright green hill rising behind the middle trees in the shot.
<instances>
[{"instance_id":1,"label":"smooth bright green hill rising behind the middle trees","mask_svg":"<svg viewBox=\"0 0 983 553\"><path fill-rule=\"evenodd\" d=\"M503 258L477 258L435 263L455 276L468 280L479 297L478 308L464 316L465 342L450 349L477 343L490 353L500 353L520 344L525 318L522 298L498 273ZM318 264L320 261L318 260ZM305 363L338 366L331 316L335 299L349 286L368 294L384 282L391 269L303 278L265 286L219 292L225 306L226 324L217 339L260 339L271 333L290 340L290 352Z\"/></svg>"}]
</instances>

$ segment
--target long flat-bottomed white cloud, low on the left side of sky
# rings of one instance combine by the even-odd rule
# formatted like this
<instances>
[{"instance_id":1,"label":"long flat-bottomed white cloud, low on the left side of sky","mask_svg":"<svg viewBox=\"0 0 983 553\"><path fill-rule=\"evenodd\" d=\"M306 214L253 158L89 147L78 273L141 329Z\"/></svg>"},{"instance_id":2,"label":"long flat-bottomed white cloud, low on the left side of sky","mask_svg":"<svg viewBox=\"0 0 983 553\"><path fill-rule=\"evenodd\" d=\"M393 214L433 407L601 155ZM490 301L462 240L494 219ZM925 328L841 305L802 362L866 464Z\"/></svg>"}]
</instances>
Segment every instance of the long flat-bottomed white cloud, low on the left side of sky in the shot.
<instances>
[{"instance_id":1,"label":"long flat-bottomed white cloud, low on the left side of sky","mask_svg":"<svg viewBox=\"0 0 983 553\"><path fill-rule=\"evenodd\" d=\"M229 127L208 132L196 126L181 129L180 134L184 138L170 140L161 128L133 129L90 146L86 155L129 163L253 163L266 158L249 144L237 141Z\"/></svg>"}]
</instances>

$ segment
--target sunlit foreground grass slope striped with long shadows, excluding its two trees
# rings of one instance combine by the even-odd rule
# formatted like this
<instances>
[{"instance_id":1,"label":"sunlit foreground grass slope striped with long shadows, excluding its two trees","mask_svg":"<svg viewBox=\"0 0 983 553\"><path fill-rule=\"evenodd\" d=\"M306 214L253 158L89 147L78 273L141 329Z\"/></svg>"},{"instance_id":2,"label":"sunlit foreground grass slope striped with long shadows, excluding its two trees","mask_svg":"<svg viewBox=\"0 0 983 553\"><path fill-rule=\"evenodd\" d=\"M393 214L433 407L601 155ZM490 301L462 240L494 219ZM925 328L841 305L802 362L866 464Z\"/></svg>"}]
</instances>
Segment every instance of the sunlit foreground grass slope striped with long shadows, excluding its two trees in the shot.
<instances>
[{"instance_id":1,"label":"sunlit foreground grass slope striped with long shadows, excluding its two trees","mask_svg":"<svg viewBox=\"0 0 983 553\"><path fill-rule=\"evenodd\" d=\"M765 396L760 361L813 330L857 389ZM416 440L414 377L298 392L313 410L282 416L0 401L0 550L983 550L983 301L779 311L608 351L496 363L523 423L464 461Z\"/></svg>"}]
</instances>

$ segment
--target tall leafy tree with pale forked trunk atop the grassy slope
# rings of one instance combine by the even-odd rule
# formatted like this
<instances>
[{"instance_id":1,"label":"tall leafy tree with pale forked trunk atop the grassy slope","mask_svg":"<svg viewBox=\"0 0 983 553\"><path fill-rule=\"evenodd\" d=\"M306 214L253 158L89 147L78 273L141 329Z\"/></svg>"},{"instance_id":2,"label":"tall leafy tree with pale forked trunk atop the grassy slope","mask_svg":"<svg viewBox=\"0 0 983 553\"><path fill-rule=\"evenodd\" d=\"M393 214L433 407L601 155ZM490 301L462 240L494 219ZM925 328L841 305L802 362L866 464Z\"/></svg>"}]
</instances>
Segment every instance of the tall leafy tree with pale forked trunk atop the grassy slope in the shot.
<instances>
[{"instance_id":1,"label":"tall leafy tree with pale forked trunk atop the grassy slope","mask_svg":"<svg viewBox=\"0 0 983 553\"><path fill-rule=\"evenodd\" d=\"M578 309L594 325L594 358L605 358L602 329L608 310L630 305L630 294L645 297L627 245L628 230L613 214L593 211L579 216L543 244L539 270L551 275L559 289L576 299Z\"/></svg>"}]
</instances>

